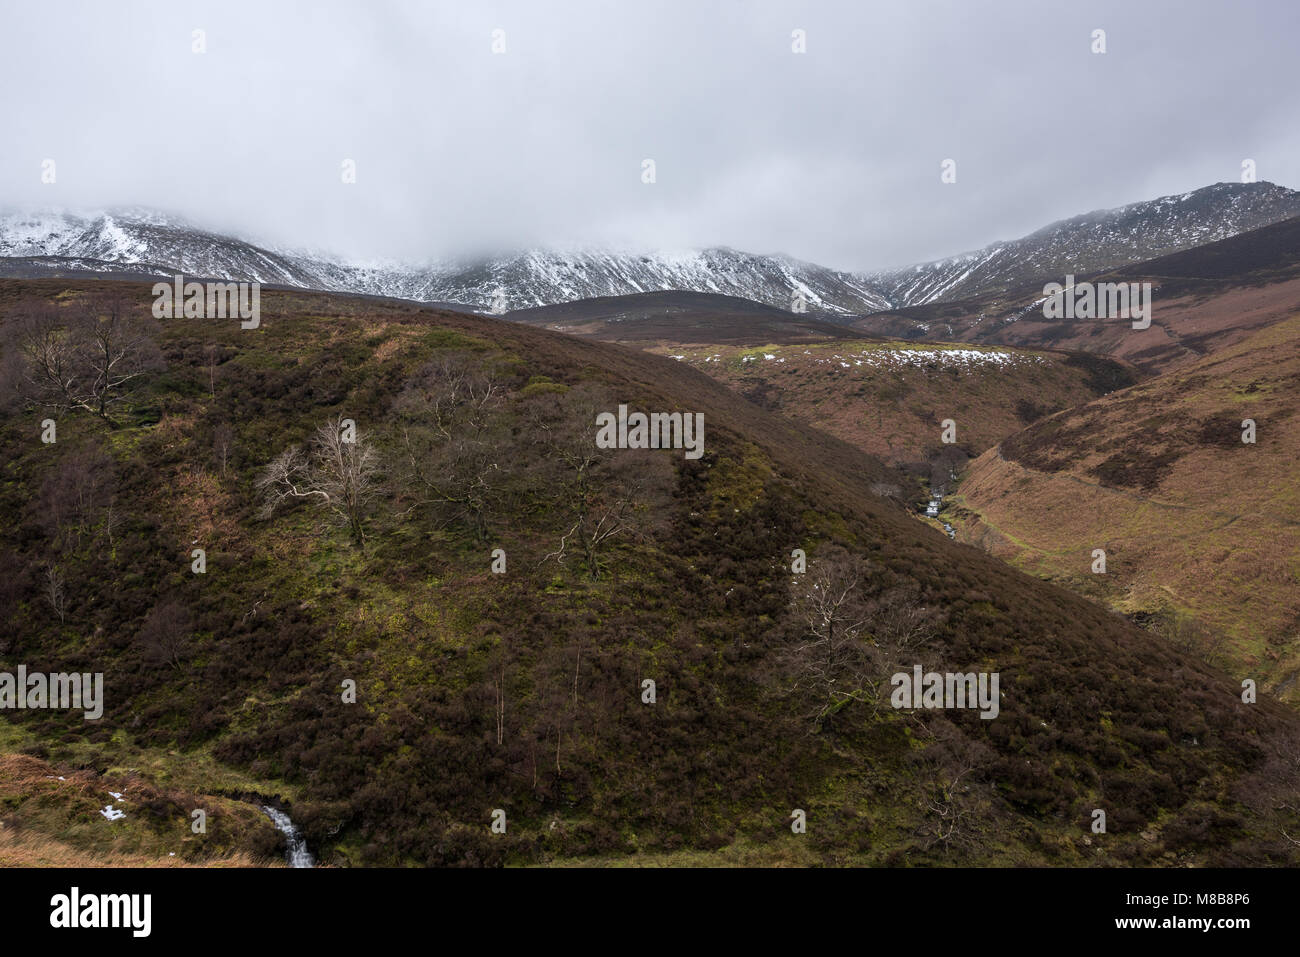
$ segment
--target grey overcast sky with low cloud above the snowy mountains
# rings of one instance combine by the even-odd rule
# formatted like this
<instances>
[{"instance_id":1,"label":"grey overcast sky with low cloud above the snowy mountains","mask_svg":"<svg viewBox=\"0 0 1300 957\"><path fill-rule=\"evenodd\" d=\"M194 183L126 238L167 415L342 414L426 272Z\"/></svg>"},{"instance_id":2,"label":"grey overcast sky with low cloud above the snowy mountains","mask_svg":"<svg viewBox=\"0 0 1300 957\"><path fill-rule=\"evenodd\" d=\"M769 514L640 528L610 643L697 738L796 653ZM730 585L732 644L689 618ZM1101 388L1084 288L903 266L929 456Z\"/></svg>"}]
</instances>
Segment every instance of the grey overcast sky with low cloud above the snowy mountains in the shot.
<instances>
[{"instance_id":1,"label":"grey overcast sky with low cloud above the snowy mountains","mask_svg":"<svg viewBox=\"0 0 1300 957\"><path fill-rule=\"evenodd\" d=\"M1247 157L1300 187L1294 0L0 5L0 204L359 259L725 244L870 269Z\"/></svg>"}]
</instances>

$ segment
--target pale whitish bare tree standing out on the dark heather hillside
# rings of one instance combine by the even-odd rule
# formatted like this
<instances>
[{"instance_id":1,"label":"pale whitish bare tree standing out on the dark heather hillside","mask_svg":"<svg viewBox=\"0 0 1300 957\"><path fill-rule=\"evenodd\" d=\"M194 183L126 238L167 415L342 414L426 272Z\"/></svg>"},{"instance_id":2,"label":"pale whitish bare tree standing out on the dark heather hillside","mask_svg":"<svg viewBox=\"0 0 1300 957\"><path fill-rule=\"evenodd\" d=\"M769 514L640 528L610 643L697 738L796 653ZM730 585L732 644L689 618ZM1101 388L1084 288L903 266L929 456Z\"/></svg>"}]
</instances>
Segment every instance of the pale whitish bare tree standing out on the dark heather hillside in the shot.
<instances>
[{"instance_id":1,"label":"pale whitish bare tree standing out on the dark heather hillside","mask_svg":"<svg viewBox=\"0 0 1300 957\"><path fill-rule=\"evenodd\" d=\"M313 501L347 525L352 542L365 545L365 516L376 495L378 462L364 434L343 417L325 423L307 451L281 452L257 478L264 518L283 503Z\"/></svg>"}]
</instances>

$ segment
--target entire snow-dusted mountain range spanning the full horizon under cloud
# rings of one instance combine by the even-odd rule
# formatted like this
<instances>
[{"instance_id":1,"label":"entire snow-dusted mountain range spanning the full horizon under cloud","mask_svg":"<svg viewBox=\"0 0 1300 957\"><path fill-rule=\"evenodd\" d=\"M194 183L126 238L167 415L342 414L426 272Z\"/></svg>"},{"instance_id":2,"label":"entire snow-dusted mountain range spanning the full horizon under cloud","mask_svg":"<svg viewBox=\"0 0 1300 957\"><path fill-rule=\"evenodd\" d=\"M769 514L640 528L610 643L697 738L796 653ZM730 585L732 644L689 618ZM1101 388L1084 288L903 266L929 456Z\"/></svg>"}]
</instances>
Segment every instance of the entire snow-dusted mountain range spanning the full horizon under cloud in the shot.
<instances>
[{"instance_id":1,"label":"entire snow-dusted mountain range spanning the full horizon under cloud","mask_svg":"<svg viewBox=\"0 0 1300 957\"><path fill-rule=\"evenodd\" d=\"M1297 215L1300 192L1273 183L1217 183L1062 220L962 256L866 274L723 247L649 254L529 250L469 263L356 264L265 248L151 211L4 213L0 274L182 272L484 311L668 290L790 309L801 293L809 313L850 316L1113 269Z\"/></svg>"}]
</instances>

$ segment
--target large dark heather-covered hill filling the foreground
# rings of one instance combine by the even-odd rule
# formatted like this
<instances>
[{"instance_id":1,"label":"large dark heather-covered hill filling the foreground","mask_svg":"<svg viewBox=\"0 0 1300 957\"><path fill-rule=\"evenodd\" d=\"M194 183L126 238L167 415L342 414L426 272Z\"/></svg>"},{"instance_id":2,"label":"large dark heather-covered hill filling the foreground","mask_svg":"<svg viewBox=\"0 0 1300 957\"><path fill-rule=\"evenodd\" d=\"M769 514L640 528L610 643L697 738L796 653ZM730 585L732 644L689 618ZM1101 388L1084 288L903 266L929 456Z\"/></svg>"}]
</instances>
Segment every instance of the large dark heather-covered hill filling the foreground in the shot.
<instances>
[{"instance_id":1,"label":"large dark heather-covered hill filling the foreground","mask_svg":"<svg viewBox=\"0 0 1300 957\"><path fill-rule=\"evenodd\" d=\"M147 307L0 283L8 381L40 303L103 329L118 291ZM335 865L1296 862L1290 710L950 544L878 462L682 363L269 291L257 330L150 335L110 423L22 390L0 420L0 666L105 675L99 723L6 715L57 774L281 794ZM705 454L594 450L619 403L703 413ZM339 502L313 445L339 419L369 494L277 505L286 476ZM823 655L810 584L845 576L864 624ZM913 664L998 672L997 718L890 707Z\"/></svg>"}]
</instances>

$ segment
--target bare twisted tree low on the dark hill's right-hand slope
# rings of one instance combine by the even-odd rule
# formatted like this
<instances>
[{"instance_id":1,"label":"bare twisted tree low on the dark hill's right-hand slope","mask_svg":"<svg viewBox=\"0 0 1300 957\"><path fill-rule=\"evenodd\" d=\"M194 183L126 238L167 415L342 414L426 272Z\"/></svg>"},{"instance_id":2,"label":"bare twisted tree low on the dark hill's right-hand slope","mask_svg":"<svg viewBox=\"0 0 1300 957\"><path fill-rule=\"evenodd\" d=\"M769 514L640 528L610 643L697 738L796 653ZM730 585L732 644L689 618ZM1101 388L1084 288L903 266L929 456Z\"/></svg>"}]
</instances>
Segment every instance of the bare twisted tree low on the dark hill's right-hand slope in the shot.
<instances>
[{"instance_id":1,"label":"bare twisted tree low on the dark hill's right-hand slope","mask_svg":"<svg viewBox=\"0 0 1300 957\"><path fill-rule=\"evenodd\" d=\"M797 641L785 649L790 690L814 729L833 724L852 702L875 707L881 685L937 632L940 614L911 594L872 596L870 567L837 545L824 546L792 584Z\"/></svg>"}]
</instances>

